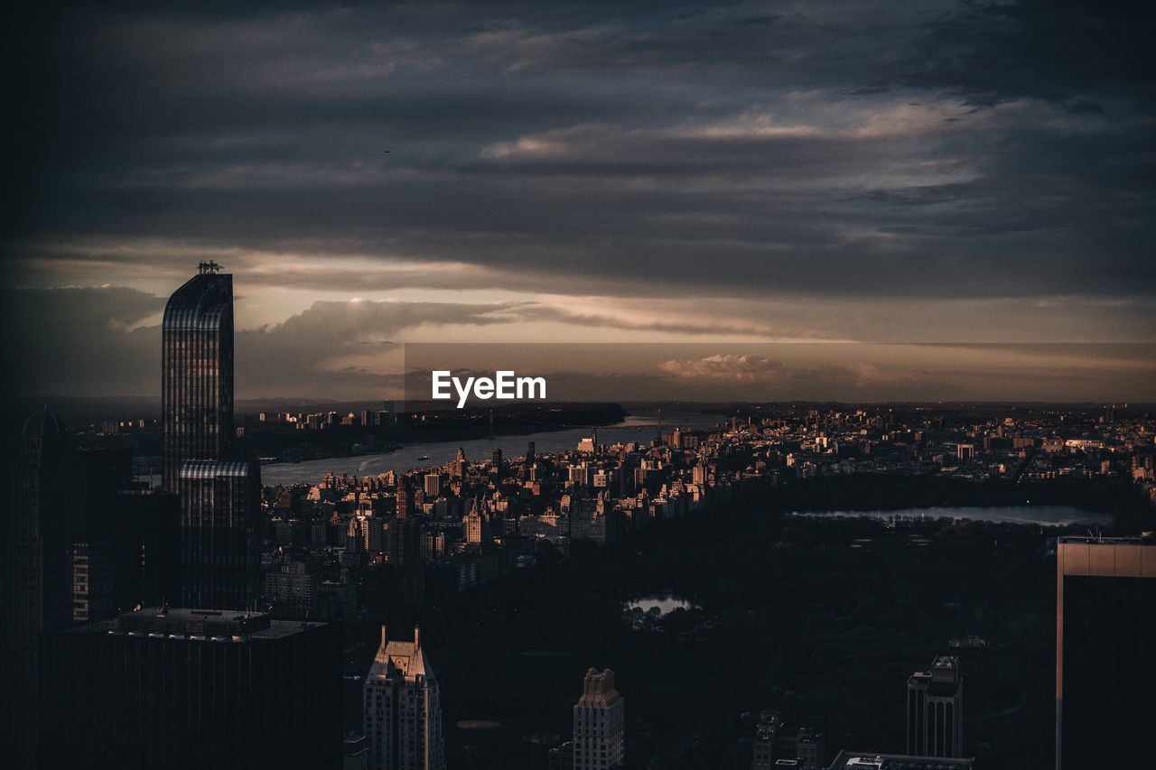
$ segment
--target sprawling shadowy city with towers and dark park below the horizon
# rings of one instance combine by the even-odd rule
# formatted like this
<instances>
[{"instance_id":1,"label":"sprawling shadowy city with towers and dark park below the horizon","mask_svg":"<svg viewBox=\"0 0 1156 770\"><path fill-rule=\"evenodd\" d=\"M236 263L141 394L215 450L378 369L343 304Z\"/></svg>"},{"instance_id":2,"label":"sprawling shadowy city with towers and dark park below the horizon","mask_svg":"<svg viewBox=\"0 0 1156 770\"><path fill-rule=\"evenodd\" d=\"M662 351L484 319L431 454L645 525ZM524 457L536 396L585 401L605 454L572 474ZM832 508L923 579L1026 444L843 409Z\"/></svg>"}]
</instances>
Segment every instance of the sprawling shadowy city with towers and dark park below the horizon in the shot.
<instances>
[{"instance_id":1,"label":"sprawling shadowy city with towers and dark park below the horizon","mask_svg":"<svg viewBox=\"0 0 1156 770\"><path fill-rule=\"evenodd\" d=\"M1010 767L1043 749L1000 745L1003 731L1044 739L1051 698L1028 682L1003 691L1001 678L1011 666L1027 679L1021 657L1052 649L1039 636L1050 617L1055 756L1095 762L1105 734L1119 756L1147 750L1138 704L1151 673L1135 662L1156 623L1144 609L1156 595L1150 407L675 405L667 423L643 406L655 419L627 440L607 438L615 422L538 451L573 428L543 423L520 454L459 447L437 465L262 483L261 460L244 450L262 427L344 431L350 450L388 453L430 414L383 401L238 425L232 277L201 262L169 299L158 421L69 428L44 407L23 422L5 579L18 765ZM606 405L555 409L615 416ZM444 423L446 436L459 422ZM134 457L156 445L157 425L161 457ZM714 585L696 575L703 564L679 568L687 554L717 557L707 543L718 538L756 551L724 548L733 562L712 565ZM944 582L932 607L910 587L890 593L896 558L925 573L892 580ZM953 571L928 565L938 560ZM816 583L820 568L836 571ZM728 584L731 569L758 577ZM1010 604L984 585L1007 569L1018 579ZM843 571L864 582L859 597L827 593ZM568 585L584 578L593 584ZM751 591L770 591L769 616L747 602ZM810 606L799 614L784 592ZM902 625L904 612L928 616L880 647L872 637L885 625L864 614ZM815 622L846 641L816 635ZM777 639L759 653L734 634ZM847 644L890 656L881 671L906 666L905 688L859 672L869 697L835 708L832 682L803 689L800 672L823 645L833 656ZM711 686L727 666L675 673L731 647L744 686ZM662 668L647 672L649 658ZM821 666L849 676L854 659ZM1040 662L1031 678L1044 688L1052 668ZM517 684L481 671L510 666L526 668ZM525 681L531 671L542 681ZM672 683L691 719L653 711ZM578 694L572 730L568 690Z\"/></svg>"}]
</instances>

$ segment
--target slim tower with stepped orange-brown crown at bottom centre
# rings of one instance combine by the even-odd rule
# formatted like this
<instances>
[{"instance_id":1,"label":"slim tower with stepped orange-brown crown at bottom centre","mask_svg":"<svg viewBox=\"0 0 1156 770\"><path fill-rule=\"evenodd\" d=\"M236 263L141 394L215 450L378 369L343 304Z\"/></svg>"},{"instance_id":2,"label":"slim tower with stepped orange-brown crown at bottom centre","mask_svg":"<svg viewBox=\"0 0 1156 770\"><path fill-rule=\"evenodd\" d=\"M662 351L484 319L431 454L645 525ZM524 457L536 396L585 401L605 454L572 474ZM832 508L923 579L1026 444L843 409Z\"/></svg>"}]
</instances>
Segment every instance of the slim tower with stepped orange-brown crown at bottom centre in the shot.
<instances>
[{"instance_id":1,"label":"slim tower with stepped orange-brown crown at bottom centre","mask_svg":"<svg viewBox=\"0 0 1156 770\"><path fill-rule=\"evenodd\" d=\"M614 672L591 668L575 704L575 770L609 770L625 762L627 702Z\"/></svg>"}]
</instances>

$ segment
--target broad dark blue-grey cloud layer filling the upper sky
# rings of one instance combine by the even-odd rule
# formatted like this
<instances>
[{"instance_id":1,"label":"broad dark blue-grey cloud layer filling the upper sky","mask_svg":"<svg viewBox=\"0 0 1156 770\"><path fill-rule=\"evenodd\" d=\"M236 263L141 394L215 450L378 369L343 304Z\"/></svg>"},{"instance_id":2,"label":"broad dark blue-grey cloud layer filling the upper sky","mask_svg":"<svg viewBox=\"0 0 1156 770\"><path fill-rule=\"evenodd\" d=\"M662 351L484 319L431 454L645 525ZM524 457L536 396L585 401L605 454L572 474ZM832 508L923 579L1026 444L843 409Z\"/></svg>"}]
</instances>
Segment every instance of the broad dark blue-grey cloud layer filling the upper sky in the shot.
<instances>
[{"instance_id":1,"label":"broad dark blue-grey cloud layer filling the upper sky","mask_svg":"<svg viewBox=\"0 0 1156 770\"><path fill-rule=\"evenodd\" d=\"M150 240L185 253L118 259L405 258L470 266L470 288L625 297L1132 297L1138 327L1153 320L1150 25L1113 6L217 3L37 22L16 50L25 193L7 244L25 272Z\"/></svg>"}]
</instances>

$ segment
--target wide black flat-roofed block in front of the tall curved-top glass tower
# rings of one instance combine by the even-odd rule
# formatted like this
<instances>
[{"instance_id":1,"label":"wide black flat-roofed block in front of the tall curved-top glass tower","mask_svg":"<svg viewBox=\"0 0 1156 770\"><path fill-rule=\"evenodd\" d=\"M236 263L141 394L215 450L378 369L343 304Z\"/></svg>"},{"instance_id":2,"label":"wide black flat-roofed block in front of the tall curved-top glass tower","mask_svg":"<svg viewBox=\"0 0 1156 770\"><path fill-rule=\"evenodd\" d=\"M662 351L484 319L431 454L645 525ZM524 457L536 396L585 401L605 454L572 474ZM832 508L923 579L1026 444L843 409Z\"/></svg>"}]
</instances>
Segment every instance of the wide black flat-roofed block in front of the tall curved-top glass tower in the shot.
<instances>
[{"instance_id":1,"label":"wide black flat-roofed block in front of the tall curved-top glass tower","mask_svg":"<svg viewBox=\"0 0 1156 770\"><path fill-rule=\"evenodd\" d=\"M44 742L84 768L341 764L336 625L150 607L45 646Z\"/></svg>"}]
</instances>

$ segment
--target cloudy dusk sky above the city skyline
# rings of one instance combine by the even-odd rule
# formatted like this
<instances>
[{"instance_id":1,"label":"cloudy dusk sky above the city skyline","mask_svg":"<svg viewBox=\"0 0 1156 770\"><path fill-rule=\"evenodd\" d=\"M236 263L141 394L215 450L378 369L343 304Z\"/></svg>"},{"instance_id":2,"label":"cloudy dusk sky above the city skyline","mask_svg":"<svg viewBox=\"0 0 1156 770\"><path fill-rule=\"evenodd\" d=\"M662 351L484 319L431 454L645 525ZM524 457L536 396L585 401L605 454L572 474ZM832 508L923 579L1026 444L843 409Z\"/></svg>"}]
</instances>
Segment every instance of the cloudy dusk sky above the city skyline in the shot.
<instances>
[{"instance_id":1,"label":"cloudy dusk sky above the city skyline","mask_svg":"<svg viewBox=\"0 0 1156 770\"><path fill-rule=\"evenodd\" d=\"M5 52L9 384L157 394L203 259L238 398L387 397L416 342L707 346L655 357L654 398L721 398L771 342L1156 342L1131 6L44 5ZM898 349L895 387L865 358L781 395L907 393L928 348ZM1017 372L981 392L1156 399L1150 348L1079 349L980 355Z\"/></svg>"}]
</instances>

